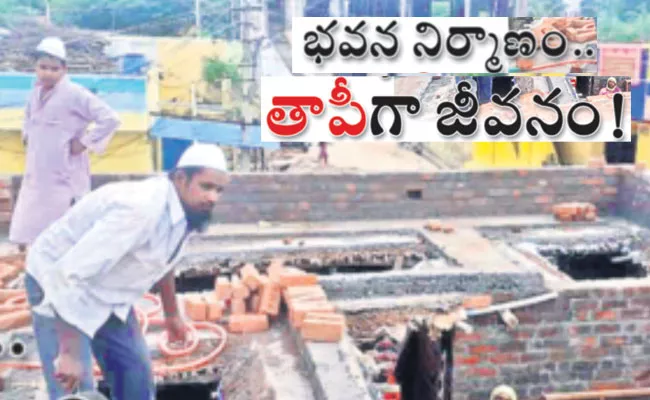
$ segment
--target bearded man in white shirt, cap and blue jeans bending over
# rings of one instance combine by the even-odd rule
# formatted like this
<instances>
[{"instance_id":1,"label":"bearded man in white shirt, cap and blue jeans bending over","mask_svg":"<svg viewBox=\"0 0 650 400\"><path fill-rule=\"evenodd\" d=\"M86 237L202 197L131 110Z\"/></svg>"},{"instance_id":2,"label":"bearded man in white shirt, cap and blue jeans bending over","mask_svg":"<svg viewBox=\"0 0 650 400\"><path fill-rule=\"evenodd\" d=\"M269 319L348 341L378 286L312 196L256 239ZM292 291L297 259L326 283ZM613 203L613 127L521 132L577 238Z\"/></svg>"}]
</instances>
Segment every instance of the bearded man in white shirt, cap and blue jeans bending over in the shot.
<instances>
[{"instance_id":1,"label":"bearded man in white shirt, cap and blue jeans bending over","mask_svg":"<svg viewBox=\"0 0 650 400\"><path fill-rule=\"evenodd\" d=\"M105 185L36 239L25 284L50 400L94 389L91 350L114 400L155 399L132 306L157 284L169 340L185 340L173 267L228 183L221 149L195 144L169 176Z\"/></svg>"}]
</instances>

